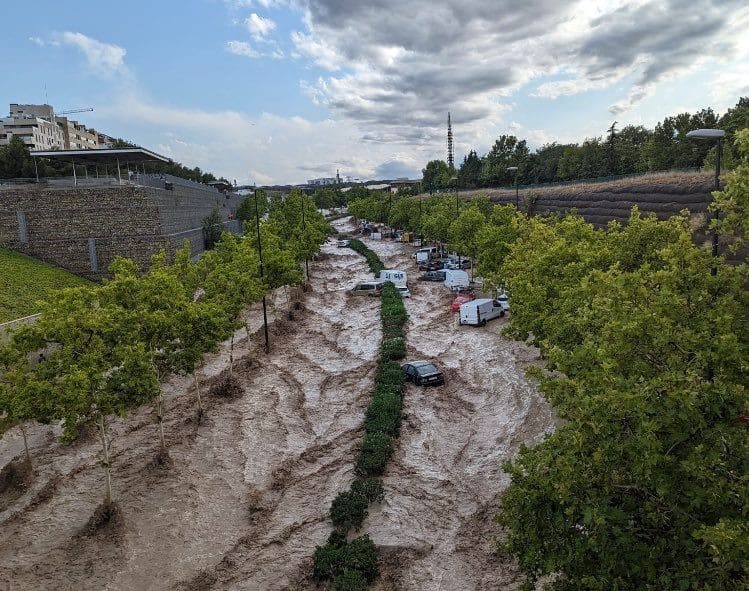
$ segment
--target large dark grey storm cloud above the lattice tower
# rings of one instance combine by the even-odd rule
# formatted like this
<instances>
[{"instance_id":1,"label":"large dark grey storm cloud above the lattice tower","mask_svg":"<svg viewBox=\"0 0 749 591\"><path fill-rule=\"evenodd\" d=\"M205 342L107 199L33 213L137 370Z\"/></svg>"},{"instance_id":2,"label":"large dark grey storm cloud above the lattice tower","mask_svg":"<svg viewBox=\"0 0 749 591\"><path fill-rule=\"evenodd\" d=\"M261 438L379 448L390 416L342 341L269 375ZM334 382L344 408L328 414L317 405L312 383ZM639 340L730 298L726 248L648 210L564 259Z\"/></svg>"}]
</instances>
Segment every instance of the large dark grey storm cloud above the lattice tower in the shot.
<instances>
[{"instance_id":1,"label":"large dark grey storm cloud above the lattice tower","mask_svg":"<svg viewBox=\"0 0 749 591\"><path fill-rule=\"evenodd\" d=\"M587 0L302 1L310 30L295 39L297 49L332 71L318 98L359 122L368 141L409 143L444 134L448 110L456 123L496 121L507 96L559 72L577 78L576 92L586 81L600 86L634 73L614 107L626 110L666 76L730 55L726 30L745 8L737 0L609 9Z\"/></svg>"}]
</instances>

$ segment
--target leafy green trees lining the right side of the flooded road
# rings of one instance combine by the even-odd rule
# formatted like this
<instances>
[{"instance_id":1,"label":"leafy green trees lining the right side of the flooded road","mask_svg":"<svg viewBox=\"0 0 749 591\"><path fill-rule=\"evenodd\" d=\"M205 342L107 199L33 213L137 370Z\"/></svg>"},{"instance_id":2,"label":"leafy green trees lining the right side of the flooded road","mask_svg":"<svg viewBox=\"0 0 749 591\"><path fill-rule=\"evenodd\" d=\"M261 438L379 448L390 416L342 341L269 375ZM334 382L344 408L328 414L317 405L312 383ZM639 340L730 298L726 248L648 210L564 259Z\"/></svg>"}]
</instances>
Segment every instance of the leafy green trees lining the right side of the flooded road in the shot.
<instances>
[{"instance_id":1,"label":"leafy green trees lining the right side of the flooded road","mask_svg":"<svg viewBox=\"0 0 749 591\"><path fill-rule=\"evenodd\" d=\"M749 129L713 228L746 252ZM483 199L350 205L446 239L512 297L509 334L561 419L505 469L502 547L546 588L744 589L749 565L749 267L695 245L686 216L603 229ZM389 215L388 215L389 213ZM742 249L744 249L742 251ZM736 253L734 253L735 255Z\"/></svg>"}]
</instances>

